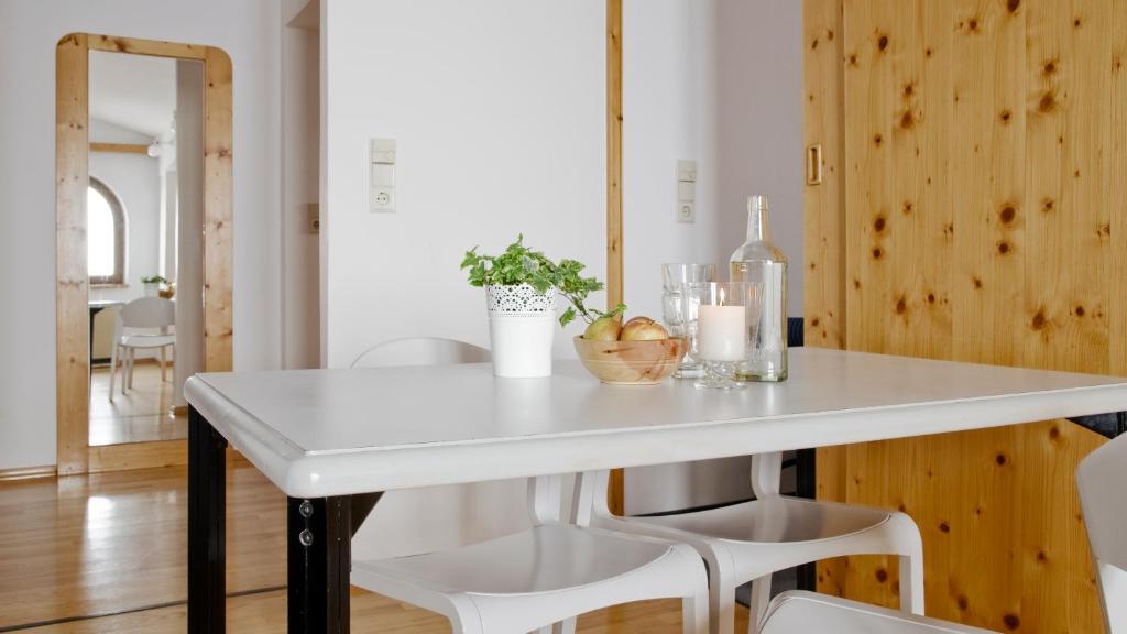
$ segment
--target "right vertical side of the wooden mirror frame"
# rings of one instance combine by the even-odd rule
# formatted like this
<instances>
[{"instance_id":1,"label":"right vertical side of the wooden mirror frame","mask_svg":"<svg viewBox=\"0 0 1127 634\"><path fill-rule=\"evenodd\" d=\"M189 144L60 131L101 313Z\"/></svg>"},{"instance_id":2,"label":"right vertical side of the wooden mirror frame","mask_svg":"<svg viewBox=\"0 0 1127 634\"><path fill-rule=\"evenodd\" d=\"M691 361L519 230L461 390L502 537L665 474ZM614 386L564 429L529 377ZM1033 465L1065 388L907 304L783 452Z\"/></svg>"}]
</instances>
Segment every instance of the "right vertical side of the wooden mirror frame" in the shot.
<instances>
[{"instance_id":1,"label":"right vertical side of the wooden mirror frame","mask_svg":"<svg viewBox=\"0 0 1127 634\"><path fill-rule=\"evenodd\" d=\"M231 58L204 59L204 368L232 370L233 139Z\"/></svg>"}]
</instances>

